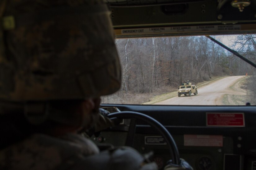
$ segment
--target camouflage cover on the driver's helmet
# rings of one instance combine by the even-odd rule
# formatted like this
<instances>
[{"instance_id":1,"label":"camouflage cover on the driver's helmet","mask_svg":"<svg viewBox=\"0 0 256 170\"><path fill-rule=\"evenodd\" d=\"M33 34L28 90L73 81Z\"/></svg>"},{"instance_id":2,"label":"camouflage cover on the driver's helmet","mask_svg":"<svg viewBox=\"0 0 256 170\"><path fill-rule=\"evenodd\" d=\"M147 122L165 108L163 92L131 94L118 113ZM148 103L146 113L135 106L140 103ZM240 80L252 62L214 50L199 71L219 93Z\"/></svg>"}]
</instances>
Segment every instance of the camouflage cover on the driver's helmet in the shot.
<instances>
[{"instance_id":1,"label":"camouflage cover on the driver's helmet","mask_svg":"<svg viewBox=\"0 0 256 170\"><path fill-rule=\"evenodd\" d=\"M109 15L95 0L7 1L3 17L13 16L15 28L2 31L0 99L84 99L117 91L121 71Z\"/></svg>"}]
</instances>

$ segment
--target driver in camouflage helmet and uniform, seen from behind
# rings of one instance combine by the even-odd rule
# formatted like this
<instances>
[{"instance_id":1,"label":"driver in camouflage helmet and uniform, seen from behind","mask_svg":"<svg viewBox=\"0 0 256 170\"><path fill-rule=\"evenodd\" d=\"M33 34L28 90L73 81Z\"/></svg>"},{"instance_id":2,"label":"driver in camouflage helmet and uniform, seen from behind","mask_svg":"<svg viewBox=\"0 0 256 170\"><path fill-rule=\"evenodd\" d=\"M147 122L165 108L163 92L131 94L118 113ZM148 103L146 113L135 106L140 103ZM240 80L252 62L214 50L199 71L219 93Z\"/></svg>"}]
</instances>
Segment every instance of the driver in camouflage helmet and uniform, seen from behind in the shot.
<instances>
[{"instance_id":1,"label":"driver in camouflage helmet and uniform, seen from behind","mask_svg":"<svg viewBox=\"0 0 256 170\"><path fill-rule=\"evenodd\" d=\"M119 90L120 63L99 0L5 0L0 15L0 169L157 169L132 148L99 152L77 132Z\"/></svg>"}]
</instances>

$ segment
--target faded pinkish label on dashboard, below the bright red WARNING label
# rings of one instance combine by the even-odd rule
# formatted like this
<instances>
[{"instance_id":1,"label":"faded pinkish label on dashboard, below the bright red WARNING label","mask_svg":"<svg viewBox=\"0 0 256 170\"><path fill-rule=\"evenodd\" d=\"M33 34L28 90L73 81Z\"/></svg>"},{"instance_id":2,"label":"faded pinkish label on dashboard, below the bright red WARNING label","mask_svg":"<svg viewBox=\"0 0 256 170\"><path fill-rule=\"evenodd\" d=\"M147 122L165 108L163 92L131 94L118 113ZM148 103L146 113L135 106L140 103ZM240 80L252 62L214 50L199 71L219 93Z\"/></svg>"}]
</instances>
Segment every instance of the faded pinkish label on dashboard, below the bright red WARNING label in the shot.
<instances>
[{"instance_id":1,"label":"faded pinkish label on dashboard, below the bright red WARNING label","mask_svg":"<svg viewBox=\"0 0 256 170\"><path fill-rule=\"evenodd\" d=\"M184 134L184 146L222 147L223 136Z\"/></svg>"}]
</instances>

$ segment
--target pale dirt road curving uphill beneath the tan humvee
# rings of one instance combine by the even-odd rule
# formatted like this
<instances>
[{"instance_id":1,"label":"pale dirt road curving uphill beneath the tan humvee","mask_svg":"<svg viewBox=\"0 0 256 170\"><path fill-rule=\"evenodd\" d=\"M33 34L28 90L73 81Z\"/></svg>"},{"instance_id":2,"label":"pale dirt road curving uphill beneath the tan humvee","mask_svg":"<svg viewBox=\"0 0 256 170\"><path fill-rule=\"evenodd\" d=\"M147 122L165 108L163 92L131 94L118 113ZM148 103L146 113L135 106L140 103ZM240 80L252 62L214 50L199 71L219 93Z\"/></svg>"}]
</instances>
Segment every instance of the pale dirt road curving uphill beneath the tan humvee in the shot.
<instances>
[{"instance_id":1,"label":"pale dirt road curving uphill beneath the tan humvee","mask_svg":"<svg viewBox=\"0 0 256 170\"><path fill-rule=\"evenodd\" d=\"M207 86L198 88L198 94L195 96L180 96L173 97L155 104L168 104L168 105L222 105L222 96L224 94L245 95L245 93L231 90L230 87L244 76L231 76Z\"/></svg>"}]
</instances>

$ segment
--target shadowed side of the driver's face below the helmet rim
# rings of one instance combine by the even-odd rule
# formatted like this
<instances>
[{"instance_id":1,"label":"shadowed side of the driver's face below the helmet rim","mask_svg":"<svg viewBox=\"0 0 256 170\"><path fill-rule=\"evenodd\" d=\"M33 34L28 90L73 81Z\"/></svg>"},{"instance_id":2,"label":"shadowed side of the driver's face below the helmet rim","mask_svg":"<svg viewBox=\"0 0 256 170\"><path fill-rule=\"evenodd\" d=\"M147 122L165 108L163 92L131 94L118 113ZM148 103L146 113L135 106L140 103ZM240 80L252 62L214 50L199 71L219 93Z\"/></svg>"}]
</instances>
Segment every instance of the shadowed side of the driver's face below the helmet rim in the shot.
<instances>
[{"instance_id":1,"label":"shadowed side of the driver's face below the helmet rim","mask_svg":"<svg viewBox=\"0 0 256 170\"><path fill-rule=\"evenodd\" d=\"M81 104L80 113L81 113L81 122L80 127L89 129L92 125L95 124L100 107L101 99L100 98L91 98L84 100Z\"/></svg>"}]
</instances>

